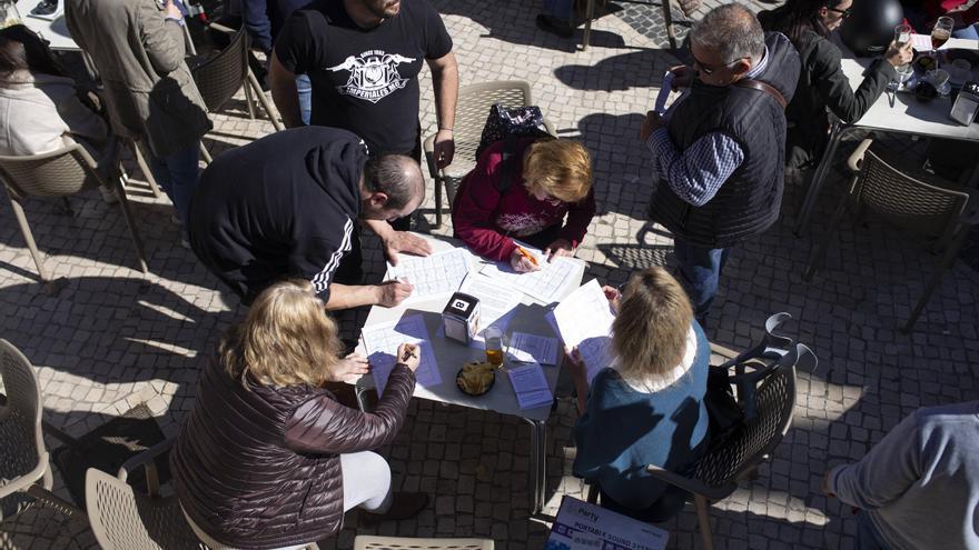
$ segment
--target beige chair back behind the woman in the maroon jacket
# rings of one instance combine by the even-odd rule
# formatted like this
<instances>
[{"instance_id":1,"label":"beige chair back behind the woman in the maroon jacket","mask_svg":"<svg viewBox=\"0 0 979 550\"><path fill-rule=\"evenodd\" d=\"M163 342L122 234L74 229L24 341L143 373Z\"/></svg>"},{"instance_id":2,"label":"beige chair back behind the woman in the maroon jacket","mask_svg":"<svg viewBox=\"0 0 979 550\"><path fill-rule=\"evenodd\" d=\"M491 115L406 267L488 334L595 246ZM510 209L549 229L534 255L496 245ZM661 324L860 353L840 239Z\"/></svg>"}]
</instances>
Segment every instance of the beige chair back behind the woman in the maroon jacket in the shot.
<instances>
[{"instance_id":1,"label":"beige chair back behind the woman in the maroon jacket","mask_svg":"<svg viewBox=\"0 0 979 550\"><path fill-rule=\"evenodd\" d=\"M497 80L459 88L453 130L455 156L448 167L451 176L464 176L476 164L473 159L494 103L508 108L532 104L531 84L523 80Z\"/></svg>"}]
</instances>

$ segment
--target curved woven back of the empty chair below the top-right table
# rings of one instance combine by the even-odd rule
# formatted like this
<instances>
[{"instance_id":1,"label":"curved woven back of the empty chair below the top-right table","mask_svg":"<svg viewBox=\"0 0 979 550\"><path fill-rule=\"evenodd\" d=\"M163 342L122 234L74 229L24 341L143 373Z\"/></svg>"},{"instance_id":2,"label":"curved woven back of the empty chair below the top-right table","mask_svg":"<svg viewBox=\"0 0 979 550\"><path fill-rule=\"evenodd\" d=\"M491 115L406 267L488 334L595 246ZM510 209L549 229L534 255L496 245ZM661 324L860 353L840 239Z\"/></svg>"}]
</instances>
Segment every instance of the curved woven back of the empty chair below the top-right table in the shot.
<instances>
[{"instance_id":1,"label":"curved woven back of the empty chair below the top-right table","mask_svg":"<svg viewBox=\"0 0 979 550\"><path fill-rule=\"evenodd\" d=\"M948 237L969 201L958 186L939 187L912 178L873 148L863 156L854 198L891 223L927 237Z\"/></svg>"}]
</instances>

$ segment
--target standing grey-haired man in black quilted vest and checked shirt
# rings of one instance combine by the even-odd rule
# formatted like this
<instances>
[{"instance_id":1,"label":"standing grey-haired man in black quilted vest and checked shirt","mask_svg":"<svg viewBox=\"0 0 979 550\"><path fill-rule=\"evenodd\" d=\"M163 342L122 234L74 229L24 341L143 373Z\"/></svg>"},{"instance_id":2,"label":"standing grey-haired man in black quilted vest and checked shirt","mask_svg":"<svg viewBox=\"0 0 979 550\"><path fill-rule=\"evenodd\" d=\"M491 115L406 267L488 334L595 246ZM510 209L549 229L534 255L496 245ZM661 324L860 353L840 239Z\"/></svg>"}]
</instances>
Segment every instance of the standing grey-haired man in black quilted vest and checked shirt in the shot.
<instances>
[{"instance_id":1,"label":"standing grey-haired man in black quilted vest and checked shirt","mask_svg":"<svg viewBox=\"0 0 979 550\"><path fill-rule=\"evenodd\" d=\"M690 32L693 67L673 70L689 90L640 136L660 183L650 217L674 236L674 252L698 321L704 324L731 247L779 218L785 156L784 106L799 54L765 36L738 3L708 12Z\"/></svg>"}]
</instances>

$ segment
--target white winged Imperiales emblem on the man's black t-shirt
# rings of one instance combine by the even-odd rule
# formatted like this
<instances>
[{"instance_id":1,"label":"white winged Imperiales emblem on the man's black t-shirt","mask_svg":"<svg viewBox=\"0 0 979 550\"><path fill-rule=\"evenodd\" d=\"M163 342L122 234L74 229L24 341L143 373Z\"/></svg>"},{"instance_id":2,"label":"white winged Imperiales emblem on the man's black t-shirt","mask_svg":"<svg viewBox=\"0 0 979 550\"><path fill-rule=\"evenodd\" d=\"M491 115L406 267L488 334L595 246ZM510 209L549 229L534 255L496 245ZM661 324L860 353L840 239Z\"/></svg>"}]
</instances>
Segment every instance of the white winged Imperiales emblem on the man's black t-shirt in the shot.
<instances>
[{"instance_id":1,"label":"white winged Imperiales emblem on the man's black t-shirt","mask_svg":"<svg viewBox=\"0 0 979 550\"><path fill-rule=\"evenodd\" d=\"M327 67L326 70L349 71L347 83L337 87L337 92L376 103L408 83L402 78L397 66L411 63L415 58L406 58L384 50L367 50L357 57L349 56L343 63Z\"/></svg>"}]
</instances>

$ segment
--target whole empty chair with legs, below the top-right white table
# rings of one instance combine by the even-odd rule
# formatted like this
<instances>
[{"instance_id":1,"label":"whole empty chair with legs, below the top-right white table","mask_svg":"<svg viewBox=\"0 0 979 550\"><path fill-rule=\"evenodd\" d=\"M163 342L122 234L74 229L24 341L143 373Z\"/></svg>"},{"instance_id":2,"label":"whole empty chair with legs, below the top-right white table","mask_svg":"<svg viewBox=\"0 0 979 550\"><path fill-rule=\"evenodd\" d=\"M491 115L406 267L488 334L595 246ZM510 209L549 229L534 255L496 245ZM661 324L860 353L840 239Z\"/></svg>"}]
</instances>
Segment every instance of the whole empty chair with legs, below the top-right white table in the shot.
<instances>
[{"instance_id":1,"label":"whole empty chair with legs, below the top-right white table","mask_svg":"<svg viewBox=\"0 0 979 550\"><path fill-rule=\"evenodd\" d=\"M850 189L840 199L825 237L813 249L803 279L811 281L822 266L830 240L851 204L860 214L868 209L902 229L936 239L931 250L945 249L945 254L910 318L900 327L901 332L907 333L914 327L945 272L955 263L969 230L979 223L979 204L976 197L961 186L928 173L912 177L902 172L896 162L876 152L872 143L872 138L864 139L850 156L848 166L853 173Z\"/></svg>"}]
</instances>

